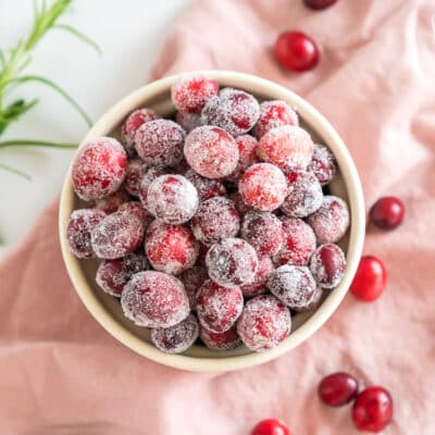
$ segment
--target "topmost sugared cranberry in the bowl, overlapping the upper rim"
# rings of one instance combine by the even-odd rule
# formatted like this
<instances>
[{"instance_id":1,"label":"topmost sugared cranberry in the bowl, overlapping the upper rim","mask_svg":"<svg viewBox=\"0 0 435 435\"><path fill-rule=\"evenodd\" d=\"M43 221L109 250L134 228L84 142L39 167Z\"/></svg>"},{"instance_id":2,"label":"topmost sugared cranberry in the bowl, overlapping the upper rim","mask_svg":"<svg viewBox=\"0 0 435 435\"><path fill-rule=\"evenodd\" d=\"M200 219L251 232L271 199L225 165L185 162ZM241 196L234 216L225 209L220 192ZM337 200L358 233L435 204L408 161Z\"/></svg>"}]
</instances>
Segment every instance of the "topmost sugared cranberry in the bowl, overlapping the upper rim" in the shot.
<instances>
[{"instance_id":1,"label":"topmost sugared cranberry in the bowl, overlapping the upper rim","mask_svg":"<svg viewBox=\"0 0 435 435\"><path fill-rule=\"evenodd\" d=\"M176 110L198 113L206 102L217 95L219 84L203 74L186 74L171 87L171 98Z\"/></svg>"}]
</instances>

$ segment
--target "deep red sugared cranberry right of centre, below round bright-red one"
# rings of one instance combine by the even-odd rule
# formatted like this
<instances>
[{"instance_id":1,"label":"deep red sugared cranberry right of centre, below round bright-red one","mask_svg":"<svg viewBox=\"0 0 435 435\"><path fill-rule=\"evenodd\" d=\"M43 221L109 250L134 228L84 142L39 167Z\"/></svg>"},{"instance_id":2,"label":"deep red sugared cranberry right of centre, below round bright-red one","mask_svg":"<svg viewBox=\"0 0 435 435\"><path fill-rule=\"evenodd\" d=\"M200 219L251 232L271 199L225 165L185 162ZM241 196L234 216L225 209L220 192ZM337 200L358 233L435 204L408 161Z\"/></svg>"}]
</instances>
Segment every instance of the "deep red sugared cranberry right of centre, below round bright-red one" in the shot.
<instances>
[{"instance_id":1,"label":"deep red sugared cranberry right of centre, below round bright-red one","mask_svg":"<svg viewBox=\"0 0 435 435\"><path fill-rule=\"evenodd\" d=\"M251 211L244 216L240 235L260 257L274 256L284 241L283 223L270 212Z\"/></svg>"}]
</instances>

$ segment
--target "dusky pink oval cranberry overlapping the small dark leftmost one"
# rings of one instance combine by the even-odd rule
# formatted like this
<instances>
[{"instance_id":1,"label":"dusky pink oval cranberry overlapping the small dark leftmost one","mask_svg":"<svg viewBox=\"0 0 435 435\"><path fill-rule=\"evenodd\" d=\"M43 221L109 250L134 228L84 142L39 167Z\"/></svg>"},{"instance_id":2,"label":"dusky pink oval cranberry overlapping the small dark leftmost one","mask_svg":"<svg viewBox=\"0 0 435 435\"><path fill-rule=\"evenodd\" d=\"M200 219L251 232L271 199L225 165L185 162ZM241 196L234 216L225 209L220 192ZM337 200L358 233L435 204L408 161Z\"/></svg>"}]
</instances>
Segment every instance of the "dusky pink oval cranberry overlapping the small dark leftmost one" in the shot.
<instances>
[{"instance_id":1,"label":"dusky pink oval cranberry overlapping the small dark leftmost one","mask_svg":"<svg viewBox=\"0 0 435 435\"><path fill-rule=\"evenodd\" d=\"M113 260L135 251L144 240L144 223L137 215L116 211L105 216L90 234L97 257Z\"/></svg>"}]
</instances>

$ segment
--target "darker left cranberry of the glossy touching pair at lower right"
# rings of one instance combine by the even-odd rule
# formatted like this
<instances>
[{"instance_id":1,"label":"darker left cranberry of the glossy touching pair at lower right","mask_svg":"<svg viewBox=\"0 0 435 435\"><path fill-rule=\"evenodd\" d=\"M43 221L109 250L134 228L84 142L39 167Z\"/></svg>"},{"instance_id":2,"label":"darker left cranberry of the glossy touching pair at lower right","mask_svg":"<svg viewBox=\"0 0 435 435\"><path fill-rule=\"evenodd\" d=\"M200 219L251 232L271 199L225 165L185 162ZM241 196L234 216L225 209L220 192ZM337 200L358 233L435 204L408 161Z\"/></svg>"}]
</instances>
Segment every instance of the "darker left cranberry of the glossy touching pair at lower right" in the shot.
<instances>
[{"instance_id":1,"label":"darker left cranberry of the glossy touching pair at lower right","mask_svg":"<svg viewBox=\"0 0 435 435\"><path fill-rule=\"evenodd\" d=\"M357 397L358 381L348 373L333 373L322 380L318 393L324 403L340 407Z\"/></svg>"}]
</instances>

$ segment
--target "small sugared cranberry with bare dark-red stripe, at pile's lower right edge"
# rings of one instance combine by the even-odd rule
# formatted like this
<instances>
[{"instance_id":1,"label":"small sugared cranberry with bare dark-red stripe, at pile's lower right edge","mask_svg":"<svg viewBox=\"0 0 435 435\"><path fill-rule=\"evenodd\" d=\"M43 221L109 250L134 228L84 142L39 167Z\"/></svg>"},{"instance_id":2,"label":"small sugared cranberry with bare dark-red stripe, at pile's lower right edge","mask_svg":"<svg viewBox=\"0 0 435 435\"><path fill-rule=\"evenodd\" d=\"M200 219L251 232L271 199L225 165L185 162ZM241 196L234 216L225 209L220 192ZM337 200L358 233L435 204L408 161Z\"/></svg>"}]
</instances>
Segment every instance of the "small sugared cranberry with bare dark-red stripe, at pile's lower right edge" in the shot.
<instances>
[{"instance_id":1,"label":"small sugared cranberry with bare dark-red stripe, at pile's lower right edge","mask_svg":"<svg viewBox=\"0 0 435 435\"><path fill-rule=\"evenodd\" d=\"M343 278L346 258L337 245L321 245L311 257L310 270L322 288L334 288Z\"/></svg>"}]
</instances>

